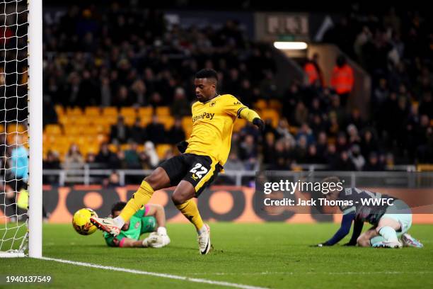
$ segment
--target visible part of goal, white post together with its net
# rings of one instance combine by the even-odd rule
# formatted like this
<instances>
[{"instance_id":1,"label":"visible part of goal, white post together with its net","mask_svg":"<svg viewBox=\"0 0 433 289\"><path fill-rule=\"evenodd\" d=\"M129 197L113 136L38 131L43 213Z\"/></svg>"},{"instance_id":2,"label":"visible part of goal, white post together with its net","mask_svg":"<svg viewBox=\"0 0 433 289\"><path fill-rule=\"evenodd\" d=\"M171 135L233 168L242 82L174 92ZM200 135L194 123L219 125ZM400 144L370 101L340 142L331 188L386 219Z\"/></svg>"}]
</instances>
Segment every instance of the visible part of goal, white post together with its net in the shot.
<instances>
[{"instance_id":1,"label":"visible part of goal, white post together with its net","mask_svg":"<svg viewBox=\"0 0 433 289\"><path fill-rule=\"evenodd\" d=\"M0 53L0 258L40 258L42 0L0 0Z\"/></svg>"}]
</instances>

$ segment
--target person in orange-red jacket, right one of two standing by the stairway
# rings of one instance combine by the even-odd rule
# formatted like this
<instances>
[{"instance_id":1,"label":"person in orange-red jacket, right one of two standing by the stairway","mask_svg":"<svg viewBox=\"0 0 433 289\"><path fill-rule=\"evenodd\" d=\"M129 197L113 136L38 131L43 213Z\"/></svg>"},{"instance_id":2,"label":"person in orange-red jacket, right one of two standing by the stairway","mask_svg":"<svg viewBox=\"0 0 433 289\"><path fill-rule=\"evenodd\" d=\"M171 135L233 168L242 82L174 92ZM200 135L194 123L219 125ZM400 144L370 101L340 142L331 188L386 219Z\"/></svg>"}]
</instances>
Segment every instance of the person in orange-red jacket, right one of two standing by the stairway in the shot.
<instances>
[{"instance_id":1,"label":"person in orange-red jacket, right one of two standing by the stairway","mask_svg":"<svg viewBox=\"0 0 433 289\"><path fill-rule=\"evenodd\" d=\"M352 92L354 85L353 69L347 64L346 57L339 55L331 76L331 86L340 96L341 105L346 107L347 99Z\"/></svg>"}]
</instances>

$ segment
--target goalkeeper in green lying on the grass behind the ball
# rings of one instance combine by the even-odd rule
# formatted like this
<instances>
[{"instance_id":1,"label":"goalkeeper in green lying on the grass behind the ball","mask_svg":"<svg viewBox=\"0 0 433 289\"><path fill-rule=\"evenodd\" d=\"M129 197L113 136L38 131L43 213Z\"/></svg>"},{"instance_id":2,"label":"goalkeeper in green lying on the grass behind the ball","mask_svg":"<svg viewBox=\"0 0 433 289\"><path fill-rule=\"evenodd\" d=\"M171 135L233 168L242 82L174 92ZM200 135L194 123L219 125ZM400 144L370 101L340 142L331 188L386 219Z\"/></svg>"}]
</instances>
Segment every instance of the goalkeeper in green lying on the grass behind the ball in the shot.
<instances>
[{"instance_id":1,"label":"goalkeeper in green lying on the grass behind the ball","mask_svg":"<svg viewBox=\"0 0 433 289\"><path fill-rule=\"evenodd\" d=\"M117 217L125 202L117 202L112 205L111 215ZM155 232L156 231L156 232ZM149 237L139 240L145 233L151 233ZM147 204L139 209L129 221L125 222L117 236L108 232L104 233L105 242L108 246L125 247L153 247L161 248L170 243L166 230L166 213L161 205Z\"/></svg>"}]
</instances>

